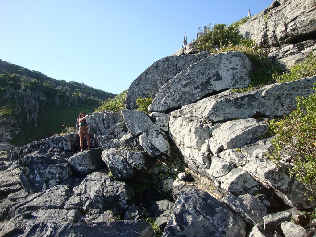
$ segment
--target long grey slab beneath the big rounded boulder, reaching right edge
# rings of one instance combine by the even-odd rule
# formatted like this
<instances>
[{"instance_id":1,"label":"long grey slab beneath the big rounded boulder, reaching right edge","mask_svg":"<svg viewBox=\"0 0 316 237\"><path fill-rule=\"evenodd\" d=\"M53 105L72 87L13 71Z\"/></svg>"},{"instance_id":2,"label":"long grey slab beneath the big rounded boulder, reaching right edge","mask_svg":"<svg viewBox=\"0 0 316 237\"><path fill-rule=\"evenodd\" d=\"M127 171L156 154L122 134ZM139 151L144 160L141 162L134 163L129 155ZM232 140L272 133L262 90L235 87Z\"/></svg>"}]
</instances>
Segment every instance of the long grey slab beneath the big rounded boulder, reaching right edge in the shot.
<instances>
[{"instance_id":1,"label":"long grey slab beneath the big rounded boulder, reaching right edge","mask_svg":"<svg viewBox=\"0 0 316 237\"><path fill-rule=\"evenodd\" d=\"M225 91L195 104L183 106L171 113L171 119L175 116L197 117L218 122L234 118L246 119L258 112L270 117L281 116L296 109L296 96L313 94L312 85L315 82L316 76L310 76L293 82L267 85L244 93Z\"/></svg>"}]
</instances>

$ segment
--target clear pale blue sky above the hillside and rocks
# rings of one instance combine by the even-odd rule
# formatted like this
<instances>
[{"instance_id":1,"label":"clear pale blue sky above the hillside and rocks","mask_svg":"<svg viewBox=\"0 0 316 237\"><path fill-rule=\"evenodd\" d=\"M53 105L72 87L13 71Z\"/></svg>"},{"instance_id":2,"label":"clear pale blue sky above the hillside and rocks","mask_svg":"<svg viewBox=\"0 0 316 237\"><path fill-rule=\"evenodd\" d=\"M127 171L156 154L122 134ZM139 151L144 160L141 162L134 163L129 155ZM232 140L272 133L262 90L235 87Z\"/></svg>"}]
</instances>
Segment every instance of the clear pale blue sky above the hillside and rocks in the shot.
<instances>
[{"instance_id":1,"label":"clear pale blue sky above the hillside and rocks","mask_svg":"<svg viewBox=\"0 0 316 237\"><path fill-rule=\"evenodd\" d=\"M186 32L230 24L272 0L0 0L0 59L118 94Z\"/></svg>"}]
</instances>

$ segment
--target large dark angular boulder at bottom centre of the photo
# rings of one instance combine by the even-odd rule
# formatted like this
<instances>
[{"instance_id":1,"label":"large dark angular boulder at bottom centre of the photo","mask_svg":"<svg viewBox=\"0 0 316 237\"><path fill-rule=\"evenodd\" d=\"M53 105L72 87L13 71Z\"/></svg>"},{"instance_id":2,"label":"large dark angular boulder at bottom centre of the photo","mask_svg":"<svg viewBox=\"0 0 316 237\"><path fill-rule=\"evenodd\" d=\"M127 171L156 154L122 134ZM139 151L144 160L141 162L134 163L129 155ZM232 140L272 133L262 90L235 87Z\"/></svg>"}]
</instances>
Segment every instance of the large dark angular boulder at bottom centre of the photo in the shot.
<instances>
[{"instance_id":1,"label":"large dark angular boulder at bottom centre of the photo","mask_svg":"<svg viewBox=\"0 0 316 237\"><path fill-rule=\"evenodd\" d=\"M179 194L163 237L246 236L243 220L210 194L187 189Z\"/></svg>"}]
</instances>

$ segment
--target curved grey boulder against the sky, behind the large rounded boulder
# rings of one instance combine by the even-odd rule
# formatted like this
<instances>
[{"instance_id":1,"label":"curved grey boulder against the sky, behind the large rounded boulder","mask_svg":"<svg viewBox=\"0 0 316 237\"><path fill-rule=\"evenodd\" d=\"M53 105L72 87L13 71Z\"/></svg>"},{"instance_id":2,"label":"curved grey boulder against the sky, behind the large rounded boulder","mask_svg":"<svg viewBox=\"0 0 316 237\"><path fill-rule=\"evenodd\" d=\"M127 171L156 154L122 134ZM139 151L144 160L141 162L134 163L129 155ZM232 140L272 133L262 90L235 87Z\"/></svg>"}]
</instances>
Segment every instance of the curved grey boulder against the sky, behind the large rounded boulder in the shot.
<instances>
[{"instance_id":1,"label":"curved grey boulder against the sky, behind the large rounded boulder","mask_svg":"<svg viewBox=\"0 0 316 237\"><path fill-rule=\"evenodd\" d=\"M139 96L155 97L160 88L171 78L209 55L210 52L202 52L179 57L168 56L153 63L131 83L125 99L125 108L136 109L136 100Z\"/></svg>"}]
</instances>

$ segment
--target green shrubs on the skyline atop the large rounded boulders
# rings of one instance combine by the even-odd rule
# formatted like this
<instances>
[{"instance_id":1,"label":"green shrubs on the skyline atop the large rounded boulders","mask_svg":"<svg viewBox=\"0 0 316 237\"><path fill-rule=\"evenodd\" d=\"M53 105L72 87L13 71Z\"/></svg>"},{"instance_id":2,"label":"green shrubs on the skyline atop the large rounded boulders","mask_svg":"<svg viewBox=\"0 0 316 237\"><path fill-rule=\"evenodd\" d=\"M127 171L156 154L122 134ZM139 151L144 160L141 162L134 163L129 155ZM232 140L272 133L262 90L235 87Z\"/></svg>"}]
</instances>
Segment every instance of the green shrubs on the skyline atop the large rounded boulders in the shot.
<instances>
[{"instance_id":1,"label":"green shrubs on the skyline atop the large rounded boulders","mask_svg":"<svg viewBox=\"0 0 316 237\"><path fill-rule=\"evenodd\" d=\"M198 38L196 40L197 50L217 53L218 51L214 48L214 46L221 45L221 50L224 46L251 46L252 41L243 39L238 32L239 26L245 23L248 19L249 17L242 18L239 21L233 22L229 26L226 24L215 24L211 29L210 27L207 27L205 32L199 28Z\"/></svg>"}]
</instances>

